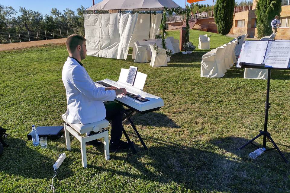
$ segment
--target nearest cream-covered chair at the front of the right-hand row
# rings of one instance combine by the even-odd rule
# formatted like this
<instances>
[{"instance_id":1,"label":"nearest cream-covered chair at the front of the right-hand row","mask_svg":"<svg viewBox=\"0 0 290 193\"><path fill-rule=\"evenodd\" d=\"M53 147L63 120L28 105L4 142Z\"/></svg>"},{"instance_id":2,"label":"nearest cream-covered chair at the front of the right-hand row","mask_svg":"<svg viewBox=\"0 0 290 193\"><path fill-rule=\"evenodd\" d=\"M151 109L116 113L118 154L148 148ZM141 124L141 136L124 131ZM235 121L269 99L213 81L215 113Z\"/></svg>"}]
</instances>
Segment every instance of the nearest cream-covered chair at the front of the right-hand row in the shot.
<instances>
[{"instance_id":1,"label":"nearest cream-covered chair at the front of the right-hand row","mask_svg":"<svg viewBox=\"0 0 290 193\"><path fill-rule=\"evenodd\" d=\"M223 46L215 49L215 52L208 52L202 56L200 77L221 78L224 76L224 68L221 66L221 58L224 55Z\"/></svg>"}]
</instances>

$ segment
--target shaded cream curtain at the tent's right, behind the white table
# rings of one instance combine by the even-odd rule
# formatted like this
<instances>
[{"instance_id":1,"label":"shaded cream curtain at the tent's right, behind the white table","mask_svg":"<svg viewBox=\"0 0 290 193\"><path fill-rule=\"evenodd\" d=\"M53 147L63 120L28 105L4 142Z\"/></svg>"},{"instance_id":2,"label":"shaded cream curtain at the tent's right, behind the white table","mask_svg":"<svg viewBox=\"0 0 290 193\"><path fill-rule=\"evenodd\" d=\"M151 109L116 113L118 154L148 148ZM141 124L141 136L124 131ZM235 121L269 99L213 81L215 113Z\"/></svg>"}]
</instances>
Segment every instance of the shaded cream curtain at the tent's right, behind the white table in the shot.
<instances>
[{"instance_id":1,"label":"shaded cream curtain at the tent's right, behind the white table","mask_svg":"<svg viewBox=\"0 0 290 193\"><path fill-rule=\"evenodd\" d=\"M155 35L159 33L159 26L161 24L162 14L139 14L135 25L133 36L131 38L130 47L133 47L134 42L140 40L154 39ZM150 36L149 36L150 27Z\"/></svg>"}]
</instances>

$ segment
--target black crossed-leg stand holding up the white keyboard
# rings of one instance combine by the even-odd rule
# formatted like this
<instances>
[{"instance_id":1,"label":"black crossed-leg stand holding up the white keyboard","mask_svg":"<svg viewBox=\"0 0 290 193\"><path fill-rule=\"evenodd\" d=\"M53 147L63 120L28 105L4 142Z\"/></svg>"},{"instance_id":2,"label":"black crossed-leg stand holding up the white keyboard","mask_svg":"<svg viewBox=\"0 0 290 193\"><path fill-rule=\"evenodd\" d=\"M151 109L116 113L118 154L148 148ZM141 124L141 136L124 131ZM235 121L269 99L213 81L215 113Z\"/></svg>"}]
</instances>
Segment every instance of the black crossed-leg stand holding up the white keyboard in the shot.
<instances>
[{"instance_id":1,"label":"black crossed-leg stand holding up the white keyboard","mask_svg":"<svg viewBox=\"0 0 290 193\"><path fill-rule=\"evenodd\" d=\"M134 125L134 122L131 120L131 117L133 115L135 115L136 113L137 112L134 109L125 110L125 112L124 112L125 117L123 118L123 124L125 122L127 122L127 121L131 124L132 128L134 129L135 133L137 134L137 136L138 136L141 144L143 145L144 149L147 150L148 148L147 148L146 144L144 143L144 141L143 141L142 137L140 136L139 132L137 131L137 129L136 129L135 125ZM128 143L131 144L131 149L132 149L133 153L135 154L137 151L136 151L134 145L132 144L132 142L131 142L131 140L130 140L129 136L127 135L127 133L126 133L124 128L123 128L123 133L124 133Z\"/></svg>"}]
</instances>

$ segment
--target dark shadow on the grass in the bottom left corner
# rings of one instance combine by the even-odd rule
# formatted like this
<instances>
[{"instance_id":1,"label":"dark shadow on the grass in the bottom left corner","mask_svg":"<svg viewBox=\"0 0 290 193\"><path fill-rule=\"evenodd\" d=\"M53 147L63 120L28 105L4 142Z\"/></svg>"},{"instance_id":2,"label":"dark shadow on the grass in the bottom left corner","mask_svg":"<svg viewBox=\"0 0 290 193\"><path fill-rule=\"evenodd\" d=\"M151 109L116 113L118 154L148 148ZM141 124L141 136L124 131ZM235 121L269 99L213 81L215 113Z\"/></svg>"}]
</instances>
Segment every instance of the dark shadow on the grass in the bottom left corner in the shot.
<instances>
[{"instance_id":1,"label":"dark shadow on the grass in the bottom left corner","mask_svg":"<svg viewBox=\"0 0 290 193\"><path fill-rule=\"evenodd\" d=\"M7 141L9 147L5 147L4 153L0 157L1 172L33 179L51 179L54 176L52 166L57 158L51 159L43 155L50 151L49 148L28 147L27 143L31 143L31 141L17 138L8 137L5 141ZM43 154L40 152L43 152ZM69 164L72 164L72 160L66 158L66 165ZM63 167L60 175L71 176L72 171L68 167Z\"/></svg>"}]
</instances>

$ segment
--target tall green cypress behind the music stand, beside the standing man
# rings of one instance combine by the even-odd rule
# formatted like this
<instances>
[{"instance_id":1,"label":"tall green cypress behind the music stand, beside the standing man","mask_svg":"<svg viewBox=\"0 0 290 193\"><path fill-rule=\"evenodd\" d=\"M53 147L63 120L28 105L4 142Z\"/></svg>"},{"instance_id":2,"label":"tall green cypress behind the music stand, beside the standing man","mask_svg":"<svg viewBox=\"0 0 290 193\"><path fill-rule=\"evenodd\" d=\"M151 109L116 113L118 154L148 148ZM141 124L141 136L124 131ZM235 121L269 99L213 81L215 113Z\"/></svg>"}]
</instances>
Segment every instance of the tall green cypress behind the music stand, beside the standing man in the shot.
<instances>
[{"instance_id":1,"label":"tall green cypress behind the music stand, beside the standing man","mask_svg":"<svg viewBox=\"0 0 290 193\"><path fill-rule=\"evenodd\" d=\"M281 0L259 0L256 7L258 38L269 36L272 32L271 21L281 13Z\"/></svg>"}]
</instances>

